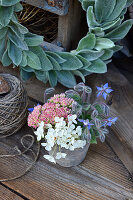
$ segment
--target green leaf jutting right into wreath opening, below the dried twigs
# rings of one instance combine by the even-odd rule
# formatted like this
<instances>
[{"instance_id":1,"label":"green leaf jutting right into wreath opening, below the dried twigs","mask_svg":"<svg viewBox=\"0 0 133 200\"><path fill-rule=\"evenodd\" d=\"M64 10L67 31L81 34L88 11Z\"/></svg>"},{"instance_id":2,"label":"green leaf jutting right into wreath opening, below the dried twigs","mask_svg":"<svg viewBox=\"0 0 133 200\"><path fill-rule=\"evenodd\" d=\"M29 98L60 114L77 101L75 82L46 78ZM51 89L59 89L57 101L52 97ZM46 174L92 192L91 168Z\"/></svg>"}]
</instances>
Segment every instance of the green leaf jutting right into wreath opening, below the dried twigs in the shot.
<instances>
[{"instance_id":1,"label":"green leaf jutting right into wreath opening, below the dried twigs","mask_svg":"<svg viewBox=\"0 0 133 200\"><path fill-rule=\"evenodd\" d=\"M38 46L43 42L43 36L39 36L33 33L25 34L25 42L28 46Z\"/></svg>"}]
</instances>

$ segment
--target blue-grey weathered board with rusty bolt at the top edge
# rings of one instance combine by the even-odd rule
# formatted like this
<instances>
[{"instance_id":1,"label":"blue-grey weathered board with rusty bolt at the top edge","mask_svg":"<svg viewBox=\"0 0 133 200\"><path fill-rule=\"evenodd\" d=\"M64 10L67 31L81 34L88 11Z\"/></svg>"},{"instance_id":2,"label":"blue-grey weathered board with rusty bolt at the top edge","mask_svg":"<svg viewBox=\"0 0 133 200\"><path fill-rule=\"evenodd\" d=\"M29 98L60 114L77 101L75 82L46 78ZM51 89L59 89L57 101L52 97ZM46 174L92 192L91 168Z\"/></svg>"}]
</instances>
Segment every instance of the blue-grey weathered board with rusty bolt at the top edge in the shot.
<instances>
[{"instance_id":1,"label":"blue-grey weathered board with rusty bolt at the top edge","mask_svg":"<svg viewBox=\"0 0 133 200\"><path fill-rule=\"evenodd\" d=\"M23 2L42 8L57 15L68 13L69 0L22 0Z\"/></svg>"}]
</instances>

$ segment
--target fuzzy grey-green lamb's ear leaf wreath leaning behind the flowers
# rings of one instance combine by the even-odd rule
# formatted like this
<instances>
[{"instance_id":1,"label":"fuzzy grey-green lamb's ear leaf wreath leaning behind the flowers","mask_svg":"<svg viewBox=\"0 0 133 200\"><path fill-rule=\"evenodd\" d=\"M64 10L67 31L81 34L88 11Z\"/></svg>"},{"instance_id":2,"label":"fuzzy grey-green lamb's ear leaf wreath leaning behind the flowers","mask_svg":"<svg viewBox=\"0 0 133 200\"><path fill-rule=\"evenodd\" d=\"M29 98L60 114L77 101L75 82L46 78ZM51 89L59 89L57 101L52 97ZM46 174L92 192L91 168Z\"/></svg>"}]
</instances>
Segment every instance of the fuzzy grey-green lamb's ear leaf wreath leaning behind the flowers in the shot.
<instances>
[{"instance_id":1,"label":"fuzzy grey-green lamb's ear leaf wreath leaning behind the flowers","mask_svg":"<svg viewBox=\"0 0 133 200\"><path fill-rule=\"evenodd\" d=\"M122 47L115 43L124 38L132 20L123 22L127 7L133 0L79 0L86 11L89 31L71 52L44 51L43 37L22 26L16 12L23 9L20 0L0 0L0 61L20 67L24 80L33 74L51 86L57 82L73 87L76 76L85 81L91 73L105 73L106 64ZM69 81L68 81L69 79Z\"/></svg>"}]
</instances>

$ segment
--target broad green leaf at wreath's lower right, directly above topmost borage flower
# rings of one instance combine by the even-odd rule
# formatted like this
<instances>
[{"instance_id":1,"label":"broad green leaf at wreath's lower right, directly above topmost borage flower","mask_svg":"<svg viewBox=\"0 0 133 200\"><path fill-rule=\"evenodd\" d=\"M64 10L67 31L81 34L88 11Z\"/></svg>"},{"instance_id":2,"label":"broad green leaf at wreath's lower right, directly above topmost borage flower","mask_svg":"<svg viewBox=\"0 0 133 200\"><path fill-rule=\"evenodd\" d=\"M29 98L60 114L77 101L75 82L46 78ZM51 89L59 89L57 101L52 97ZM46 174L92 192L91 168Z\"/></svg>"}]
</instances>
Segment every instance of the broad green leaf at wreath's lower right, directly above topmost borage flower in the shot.
<instances>
[{"instance_id":1,"label":"broad green leaf at wreath's lower right, directly above topmost borage flower","mask_svg":"<svg viewBox=\"0 0 133 200\"><path fill-rule=\"evenodd\" d=\"M107 66L102 60L97 59L92 62L91 66L89 66L88 68L88 71L92 73L99 73L99 74L105 73L107 72Z\"/></svg>"}]
</instances>

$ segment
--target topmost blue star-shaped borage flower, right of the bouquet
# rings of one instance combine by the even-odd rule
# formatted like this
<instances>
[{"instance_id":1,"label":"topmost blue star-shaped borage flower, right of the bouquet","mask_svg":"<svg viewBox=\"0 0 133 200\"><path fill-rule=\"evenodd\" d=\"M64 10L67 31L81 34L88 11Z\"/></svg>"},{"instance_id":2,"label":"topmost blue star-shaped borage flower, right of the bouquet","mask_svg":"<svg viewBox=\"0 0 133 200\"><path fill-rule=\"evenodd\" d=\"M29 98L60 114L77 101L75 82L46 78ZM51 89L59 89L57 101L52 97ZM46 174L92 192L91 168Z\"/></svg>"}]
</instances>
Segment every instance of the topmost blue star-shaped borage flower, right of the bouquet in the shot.
<instances>
[{"instance_id":1,"label":"topmost blue star-shaped borage flower, right of the bouquet","mask_svg":"<svg viewBox=\"0 0 133 200\"><path fill-rule=\"evenodd\" d=\"M97 97L103 96L103 98L106 100L108 94L112 92L113 90L108 86L108 83L101 87L96 87L98 92L97 92Z\"/></svg>"}]
</instances>

